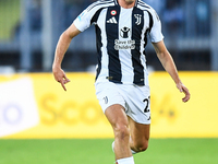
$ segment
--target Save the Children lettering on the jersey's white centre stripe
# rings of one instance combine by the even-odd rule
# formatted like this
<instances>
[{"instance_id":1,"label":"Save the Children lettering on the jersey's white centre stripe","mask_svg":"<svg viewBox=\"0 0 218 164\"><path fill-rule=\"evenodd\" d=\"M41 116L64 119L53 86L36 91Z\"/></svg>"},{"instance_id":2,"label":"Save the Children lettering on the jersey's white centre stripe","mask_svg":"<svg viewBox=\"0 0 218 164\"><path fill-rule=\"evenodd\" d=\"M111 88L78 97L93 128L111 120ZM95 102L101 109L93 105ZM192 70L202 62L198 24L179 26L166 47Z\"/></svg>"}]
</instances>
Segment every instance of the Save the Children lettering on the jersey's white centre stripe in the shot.
<instances>
[{"instance_id":1,"label":"Save the Children lettering on the jersey's white centre stripe","mask_svg":"<svg viewBox=\"0 0 218 164\"><path fill-rule=\"evenodd\" d=\"M114 40L114 49L120 50L120 49L135 49L135 40Z\"/></svg>"}]
</instances>

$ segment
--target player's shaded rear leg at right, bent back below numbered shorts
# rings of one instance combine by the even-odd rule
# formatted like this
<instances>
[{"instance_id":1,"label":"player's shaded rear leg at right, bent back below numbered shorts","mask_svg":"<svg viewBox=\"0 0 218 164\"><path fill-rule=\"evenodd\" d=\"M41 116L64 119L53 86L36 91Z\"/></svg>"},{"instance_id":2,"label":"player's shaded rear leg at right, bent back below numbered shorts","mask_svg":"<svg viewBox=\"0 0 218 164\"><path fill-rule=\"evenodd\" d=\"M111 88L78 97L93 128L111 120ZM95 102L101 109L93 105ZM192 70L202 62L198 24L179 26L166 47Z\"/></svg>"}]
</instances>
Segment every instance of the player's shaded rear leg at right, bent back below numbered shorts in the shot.
<instances>
[{"instance_id":1,"label":"player's shaded rear leg at right, bent back below numbered shorts","mask_svg":"<svg viewBox=\"0 0 218 164\"><path fill-rule=\"evenodd\" d=\"M129 126L131 133L131 150L133 150L136 153L145 151L148 148L150 125L137 124L129 117Z\"/></svg>"}]
</instances>

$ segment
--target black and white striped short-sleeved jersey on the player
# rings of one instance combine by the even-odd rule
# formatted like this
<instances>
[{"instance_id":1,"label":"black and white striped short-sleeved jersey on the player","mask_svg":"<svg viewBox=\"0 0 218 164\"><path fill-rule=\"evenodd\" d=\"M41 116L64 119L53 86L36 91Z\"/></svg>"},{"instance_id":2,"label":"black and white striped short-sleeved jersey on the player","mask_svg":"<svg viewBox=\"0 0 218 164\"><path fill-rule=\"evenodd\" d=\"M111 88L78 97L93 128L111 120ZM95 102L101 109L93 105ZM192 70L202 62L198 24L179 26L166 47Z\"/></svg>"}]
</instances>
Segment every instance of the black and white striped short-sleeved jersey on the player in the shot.
<instances>
[{"instance_id":1,"label":"black and white striped short-sleeved jersey on the player","mask_svg":"<svg viewBox=\"0 0 218 164\"><path fill-rule=\"evenodd\" d=\"M96 27L98 65L96 82L148 85L145 46L162 40L161 24L155 10L142 0L131 9L118 0L99 0L74 21L81 32Z\"/></svg>"}]
</instances>

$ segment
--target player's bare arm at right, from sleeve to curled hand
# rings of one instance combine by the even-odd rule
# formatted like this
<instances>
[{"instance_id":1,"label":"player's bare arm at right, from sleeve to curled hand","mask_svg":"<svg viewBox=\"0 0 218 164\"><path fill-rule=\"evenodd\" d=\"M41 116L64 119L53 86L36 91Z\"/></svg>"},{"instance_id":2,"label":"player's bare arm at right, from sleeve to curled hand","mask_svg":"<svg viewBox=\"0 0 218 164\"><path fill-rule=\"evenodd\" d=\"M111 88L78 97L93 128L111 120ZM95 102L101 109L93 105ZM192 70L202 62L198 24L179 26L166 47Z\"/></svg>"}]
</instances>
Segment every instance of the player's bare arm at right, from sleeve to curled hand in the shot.
<instances>
[{"instance_id":1,"label":"player's bare arm at right, from sleeve to curled hand","mask_svg":"<svg viewBox=\"0 0 218 164\"><path fill-rule=\"evenodd\" d=\"M180 92L183 92L185 94L182 101L187 102L190 99L190 92L181 82L174 61L170 52L167 50L164 40L153 43L153 46L165 70L171 75Z\"/></svg>"}]
</instances>

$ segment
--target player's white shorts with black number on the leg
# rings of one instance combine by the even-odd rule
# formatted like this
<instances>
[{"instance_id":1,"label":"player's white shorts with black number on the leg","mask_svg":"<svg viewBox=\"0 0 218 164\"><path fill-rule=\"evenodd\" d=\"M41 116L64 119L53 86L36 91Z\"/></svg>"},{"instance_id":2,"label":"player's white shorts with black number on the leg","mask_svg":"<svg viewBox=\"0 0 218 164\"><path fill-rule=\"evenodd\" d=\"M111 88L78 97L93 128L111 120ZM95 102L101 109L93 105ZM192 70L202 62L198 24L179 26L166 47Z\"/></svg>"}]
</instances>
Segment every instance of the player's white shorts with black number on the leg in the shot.
<instances>
[{"instance_id":1,"label":"player's white shorts with black number on the leg","mask_svg":"<svg viewBox=\"0 0 218 164\"><path fill-rule=\"evenodd\" d=\"M112 82L96 83L96 96L105 110L114 104L125 108L125 114L135 122L150 124L150 91L149 86L117 84Z\"/></svg>"}]
</instances>

